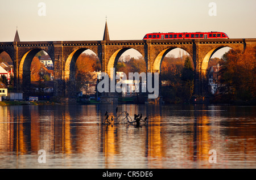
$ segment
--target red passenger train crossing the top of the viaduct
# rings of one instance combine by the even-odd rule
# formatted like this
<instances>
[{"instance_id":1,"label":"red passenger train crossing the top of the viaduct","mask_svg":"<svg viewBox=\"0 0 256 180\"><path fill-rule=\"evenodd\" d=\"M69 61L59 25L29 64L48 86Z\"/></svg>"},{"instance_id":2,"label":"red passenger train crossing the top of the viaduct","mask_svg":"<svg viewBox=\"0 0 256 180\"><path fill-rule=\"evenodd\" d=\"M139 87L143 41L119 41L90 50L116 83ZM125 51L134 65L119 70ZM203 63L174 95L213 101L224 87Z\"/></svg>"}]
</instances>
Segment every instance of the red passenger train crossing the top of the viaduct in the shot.
<instances>
[{"instance_id":1,"label":"red passenger train crossing the top of the viaduct","mask_svg":"<svg viewBox=\"0 0 256 180\"><path fill-rule=\"evenodd\" d=\"M202 39L202 38L229 38L224 32L168 32L148 33L143 40L173 40L173 39Z\"/></svg>"}]
</instances>

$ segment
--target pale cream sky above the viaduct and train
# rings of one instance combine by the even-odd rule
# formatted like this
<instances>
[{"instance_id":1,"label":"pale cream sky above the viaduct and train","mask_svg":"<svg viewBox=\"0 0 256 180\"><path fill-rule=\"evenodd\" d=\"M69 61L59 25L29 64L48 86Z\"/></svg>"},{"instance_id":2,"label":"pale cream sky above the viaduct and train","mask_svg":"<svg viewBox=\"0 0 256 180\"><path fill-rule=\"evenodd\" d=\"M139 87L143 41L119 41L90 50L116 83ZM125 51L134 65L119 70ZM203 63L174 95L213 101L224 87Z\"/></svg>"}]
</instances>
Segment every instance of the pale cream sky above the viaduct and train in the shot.
<instances>
[{"instance_id":1,"label":"pale cream sky above the viaduct and train","mask_svg":"<svg viewBox=\"0 0 256 180\"><path fill-rule=\"evenodd\" d=\"M106 16L110 40L197 31L255 38L255 7L256 0L0 0L0 42L13 41L16 27L21 41L102 40Z\"/></svg>"}]
</instances>

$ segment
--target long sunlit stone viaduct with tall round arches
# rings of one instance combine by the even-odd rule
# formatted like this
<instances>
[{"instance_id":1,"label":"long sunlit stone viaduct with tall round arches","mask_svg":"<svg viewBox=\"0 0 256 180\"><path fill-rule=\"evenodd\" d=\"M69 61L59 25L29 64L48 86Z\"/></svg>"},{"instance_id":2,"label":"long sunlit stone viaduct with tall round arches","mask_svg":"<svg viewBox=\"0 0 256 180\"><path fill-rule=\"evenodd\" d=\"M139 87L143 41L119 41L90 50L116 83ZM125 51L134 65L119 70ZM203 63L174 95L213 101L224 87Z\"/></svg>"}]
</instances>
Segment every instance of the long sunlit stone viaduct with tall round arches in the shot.
<instances>
[{"instance_id":1,"label":"long sunlit stone viaduct with tall round arches","mask_svg":"<svg viewBox=\"0 0 256 180\"><path fill-rule=\"evenodd\" d=\"M219 49L230 47L244 50L255 46L255 38L203 40L109 40L106 25L103 41L35 41L0 42L0 53L5 51L13 60L15 88L26 92L30 85L30 65L40 50L49 54L54 65L55 96L70 100L75 96L75 63L84 50L97 54L102 72L110 74L118 58L128 49L135 49L146 61L147 72L160 72L164 56L172 49L181 48L191 55L195 65L195 94L203 95L203 79L210 57ZM113 102L113 100L112 100Z\"/></svg>"}]
</instances>

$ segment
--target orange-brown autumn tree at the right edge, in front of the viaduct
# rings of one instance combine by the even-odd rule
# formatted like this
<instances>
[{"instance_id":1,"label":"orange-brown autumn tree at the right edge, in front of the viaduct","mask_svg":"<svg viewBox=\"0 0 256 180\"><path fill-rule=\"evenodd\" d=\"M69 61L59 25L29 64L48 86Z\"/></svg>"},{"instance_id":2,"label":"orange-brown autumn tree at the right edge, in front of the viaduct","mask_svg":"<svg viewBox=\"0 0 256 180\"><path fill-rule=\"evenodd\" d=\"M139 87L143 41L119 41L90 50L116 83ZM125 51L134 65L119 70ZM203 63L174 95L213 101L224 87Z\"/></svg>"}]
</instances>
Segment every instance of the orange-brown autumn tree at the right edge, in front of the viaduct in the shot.
<instances>
[{"instance_id":1,"label":"orange-brown autumn tree at the right edge, in front of the viaduct","mask_svg":"<svg viewBox=\"0 0 256 180\"><path fill-rule=\"evenodd\" d=\"M220 92L233 100L255 99L255 52L247 47L244 52L230 49L223 55L220 70Z\"/></svg>"}]
</instances>

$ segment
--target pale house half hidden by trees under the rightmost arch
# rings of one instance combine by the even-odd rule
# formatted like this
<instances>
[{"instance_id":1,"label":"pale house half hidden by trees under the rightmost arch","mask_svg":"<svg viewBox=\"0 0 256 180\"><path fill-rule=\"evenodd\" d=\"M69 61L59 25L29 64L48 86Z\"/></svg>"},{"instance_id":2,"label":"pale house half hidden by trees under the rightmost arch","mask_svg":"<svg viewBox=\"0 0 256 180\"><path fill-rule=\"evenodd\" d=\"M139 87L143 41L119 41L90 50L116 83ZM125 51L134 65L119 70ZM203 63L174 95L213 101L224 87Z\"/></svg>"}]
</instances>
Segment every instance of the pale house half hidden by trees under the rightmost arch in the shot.
<instances>
[{"instance_id":1,"label":"pale house half hidden by trees under the rightmost arch","mask_svg":"<svg viewBox=\"0 0 256 180\"><path fill-rule=\"evenodd\" d=\"M209 91L210 93L212 93L213 95L218 93L218 88L220 87L220 69L221 66L220 64L217 64L216 66L212 66L209 68L208 71L208 85L209 85Z\"/></svg>"}]
</instances>

